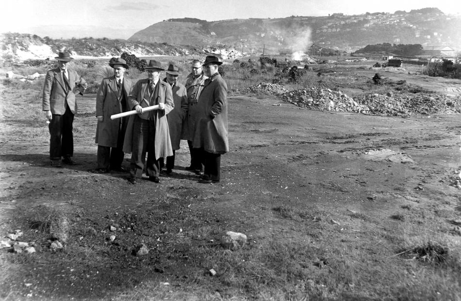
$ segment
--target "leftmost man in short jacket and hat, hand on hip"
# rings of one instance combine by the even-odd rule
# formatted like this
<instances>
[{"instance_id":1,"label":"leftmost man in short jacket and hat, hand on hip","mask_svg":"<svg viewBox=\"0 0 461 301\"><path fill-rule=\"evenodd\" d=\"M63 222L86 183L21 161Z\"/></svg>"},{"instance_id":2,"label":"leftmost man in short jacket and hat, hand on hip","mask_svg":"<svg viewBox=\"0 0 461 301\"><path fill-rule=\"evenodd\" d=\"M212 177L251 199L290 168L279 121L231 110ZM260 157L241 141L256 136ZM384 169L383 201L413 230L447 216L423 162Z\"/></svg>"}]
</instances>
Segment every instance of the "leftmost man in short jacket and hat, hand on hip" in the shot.
<instances>
[{"instance_id":1,"label":"leftmost man in short jacket and hat, hand on hip","mask_svg":"<svg viewBox=\"0 0 461 301\"><path fill-rule=\"evenodd\" d=\"M42 109L49 120L49 158L51 166L61 167L63 163L76 164L72 125L77 113L76 94L83 95L86 81L74 70L68 69L73 60L69 52L59 52L55 57L58 66L48 70L43 85Z\"/></svg>"}]
</instances>

